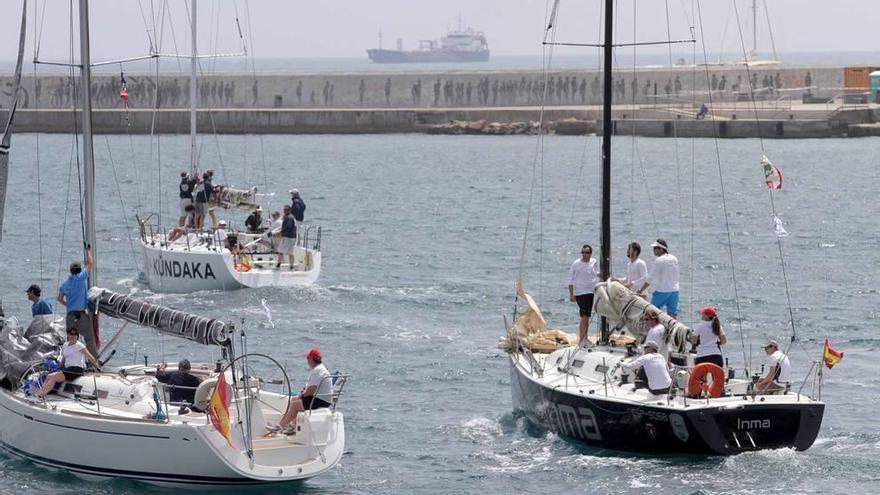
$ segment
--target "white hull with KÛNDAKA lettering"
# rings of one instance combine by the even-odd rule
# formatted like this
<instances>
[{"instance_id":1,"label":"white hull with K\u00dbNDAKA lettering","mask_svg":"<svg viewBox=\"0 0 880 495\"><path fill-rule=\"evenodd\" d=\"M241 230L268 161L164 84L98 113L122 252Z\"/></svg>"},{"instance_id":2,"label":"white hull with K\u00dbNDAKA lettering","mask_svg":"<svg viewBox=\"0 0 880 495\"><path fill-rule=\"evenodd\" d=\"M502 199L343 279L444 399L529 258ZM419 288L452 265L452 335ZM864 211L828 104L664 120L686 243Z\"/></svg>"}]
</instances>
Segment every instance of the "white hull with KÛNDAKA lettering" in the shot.
<instances>
[{"instance_id":1,"label":"white hull with K\u00dbNDAKA lettering","mask_svg":"<svg viewBox=\"0 0 880 495\"><path fill-rule=\"evenodd\" d=\"M264 268L236 269L228 250L186 250L153 246L141 242L145 282L153 292L186 294L202 290L236 290L245 287L297 287L314 284L321 272L321 252L309 250L309 270L274 268L274 256L267 255ZM296 248L296 259L305 250Z\"/></svg>"}]
</instances>

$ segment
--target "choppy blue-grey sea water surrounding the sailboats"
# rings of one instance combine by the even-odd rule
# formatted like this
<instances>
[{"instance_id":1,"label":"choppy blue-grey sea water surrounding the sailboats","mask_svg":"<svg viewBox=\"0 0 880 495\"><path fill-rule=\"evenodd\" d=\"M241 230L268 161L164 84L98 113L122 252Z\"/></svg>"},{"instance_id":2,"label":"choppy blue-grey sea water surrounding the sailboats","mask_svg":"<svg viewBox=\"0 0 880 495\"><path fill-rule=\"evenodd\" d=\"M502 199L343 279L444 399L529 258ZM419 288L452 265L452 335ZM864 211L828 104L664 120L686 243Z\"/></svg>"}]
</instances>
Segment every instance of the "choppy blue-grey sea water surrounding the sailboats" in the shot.
<instances>
[{"instance_id":1,"label":"choppy blue-grey sea water surrounding the sailboats","mask_svg":"<svg viewBox=\"0 0 880 495\"><path fill-rule=\"evenodd\" d=\"M14 139L0 295L7 315L28 315L24 288L40 273L37 136ZM39 137L41 283L50 297L59 266L79 256L76 204L65 202L71 145L70 136ZM278 193L278 201L291 187L302 191L307 220L325 226L325 266L319 285L309 289L185 296L151 294L132 281L139 269L139 253L128 241L133 208L155 206L157 195L173 200L188 156L183 136L163 137L160 145L161 153L144 136L96 140L100 283L197 313L244 319L250 350L284 360L296 381L306 376L302 353L315 345L331 368L354 374L341 402L348 430L342 463L329 475L280 487L278 493L880 491L880 379L873 362L880 351L878 139L765 143L785 177L775 202L791 233L783 251L798 334L809 352L800 347L792 352L795 374L806 374L806 361L818 358L826 337L846 357L826 375L828 407L812 449L709 459L590 450L512 413L506 355L496 343L502 315L513 302L535 138L206 138L203 166L213 166L219 182L262 184L268 177L268 190ZM732 322L737 309L711 140L616 141L615 269L623 271L630 240L647 245L658 235L666 238L682 262L687 310L682 313L718 305L731 335L728 355L741 363L750 349L757 359L759 340L790 334L788 307L758 166L760 144L731 140L719 147L743 326ZM527 288L539 296L548 320L569 330L577 318L564 300L567 267L581 243L598 246L598 150L593 137L547 139L543 214L536 205L531 218ZM636 150L641 164L633 160ZM536 193L536 203L539 198ZM65 204L74 206L66 224ZM166 209L166 222L171 215ZM745 353L739 345L744 332ZM151 361L212 357L187 344L130 332L116 359L142 360L145 354ZM138 455L135 444L131 455ZM88 483L7 457L0 457L0 475L0 493L145 490L126 481Z\"/></svg>"}]
</instances>

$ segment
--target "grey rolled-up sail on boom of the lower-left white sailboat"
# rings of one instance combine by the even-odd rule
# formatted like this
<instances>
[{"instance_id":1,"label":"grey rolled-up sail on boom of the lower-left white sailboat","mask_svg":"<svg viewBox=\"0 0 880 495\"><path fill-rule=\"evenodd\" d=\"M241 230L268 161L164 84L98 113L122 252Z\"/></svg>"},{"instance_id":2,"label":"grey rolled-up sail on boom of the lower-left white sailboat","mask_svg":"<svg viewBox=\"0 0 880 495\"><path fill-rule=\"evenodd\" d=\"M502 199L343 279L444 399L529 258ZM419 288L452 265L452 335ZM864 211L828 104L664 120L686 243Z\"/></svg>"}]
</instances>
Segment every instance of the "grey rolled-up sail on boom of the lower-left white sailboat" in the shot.
<instances>
[{"instance_id":1,"label":"grey rolled-up sail on boom of the lower-left white sailboat","mask_svg":"<svg viewBox=\"0 0 880 495\"><path fill-rule=\"evenodd\" d=\"M204 345L225 346L232 333L220 320L150 304L100 287L89 289L89 301L99 313Z\"/></svg>"}]
</instances>

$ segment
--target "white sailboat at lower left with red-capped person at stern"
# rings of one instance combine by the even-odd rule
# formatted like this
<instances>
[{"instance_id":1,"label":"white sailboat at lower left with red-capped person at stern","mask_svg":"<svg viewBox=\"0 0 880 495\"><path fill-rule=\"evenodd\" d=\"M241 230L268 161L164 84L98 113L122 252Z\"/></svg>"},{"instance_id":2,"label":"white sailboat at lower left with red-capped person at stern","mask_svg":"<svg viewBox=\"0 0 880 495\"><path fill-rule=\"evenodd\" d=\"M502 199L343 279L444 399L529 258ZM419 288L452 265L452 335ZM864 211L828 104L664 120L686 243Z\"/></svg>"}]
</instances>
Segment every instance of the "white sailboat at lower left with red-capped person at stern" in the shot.
<instances>
[{"instance_id":1,"label":"white sailboat at lower left with red-capped person at stern","mask_svg":"<svg viewBox=\"0 0 880 495\"><path fill-rule=\"evenodd\" d=\"M16 81L21 71L27 2ZM79 0L85 243L95 244L95 174L91 135L91 60L88 1ZM17 94L17 92L16 92ZM8 140L4 141L8 143ZM98 257L94 256L97 266ZM92 268L89 282L95 284ZM92 286L90 303L106 317L104 328L121 323L98 356L98 370L63 383L44 398L35 395L63 341L62 321L37 317L25 330L2 321L0 350L0 448L39 466L87 479L122 477L160 485L239 486L307 479L332 469L342 457L345 427L337 409L346 381L333 377L330 407L299 414L295 434L264 436L286 410L290 383L278 361L247 352L241 329L208 318L147 303ZM157 367L110 366L114 342L128 326L159 332L216 350L213 363L193 363L200 378L192 402L170 402ZM11 343L9 346L7 343ZM102 359L103 358L103 359ZM252 373L257 361L277 367L281 393L272 380ZM146 360L145 360L146 361ZM174 366L168 371L173 371ZM35 390L36 389L36 390ZM208 413L205 413L207 411Z\"/></svg>"}]
</instances>

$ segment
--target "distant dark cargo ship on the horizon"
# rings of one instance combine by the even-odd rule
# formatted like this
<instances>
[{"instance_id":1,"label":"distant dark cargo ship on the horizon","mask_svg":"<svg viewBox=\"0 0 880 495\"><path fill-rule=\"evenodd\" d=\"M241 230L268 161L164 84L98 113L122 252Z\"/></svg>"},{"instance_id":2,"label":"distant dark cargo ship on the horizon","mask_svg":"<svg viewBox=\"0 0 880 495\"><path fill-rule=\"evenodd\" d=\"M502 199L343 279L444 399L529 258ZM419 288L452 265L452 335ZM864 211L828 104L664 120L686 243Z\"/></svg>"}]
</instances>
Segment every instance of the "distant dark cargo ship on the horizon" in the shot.
<instances>
[{"instance_id":1,"label":"distant dark cargo ship on the horizon","mask_svg":"<svg viewBox=\"0 0 880 495\"><path fill-rule=\"evenodd\" d=\"M397 50L382 48L367 50L367 56L377 64L408 64L428 62L488 62L489 43L483 33L472 28L449 31L436 40L420 40L418 50L403 50L403 41L397 40Z\"/></svg>"}]
</instances>

